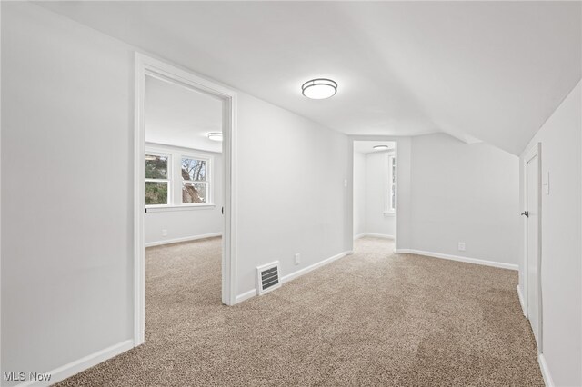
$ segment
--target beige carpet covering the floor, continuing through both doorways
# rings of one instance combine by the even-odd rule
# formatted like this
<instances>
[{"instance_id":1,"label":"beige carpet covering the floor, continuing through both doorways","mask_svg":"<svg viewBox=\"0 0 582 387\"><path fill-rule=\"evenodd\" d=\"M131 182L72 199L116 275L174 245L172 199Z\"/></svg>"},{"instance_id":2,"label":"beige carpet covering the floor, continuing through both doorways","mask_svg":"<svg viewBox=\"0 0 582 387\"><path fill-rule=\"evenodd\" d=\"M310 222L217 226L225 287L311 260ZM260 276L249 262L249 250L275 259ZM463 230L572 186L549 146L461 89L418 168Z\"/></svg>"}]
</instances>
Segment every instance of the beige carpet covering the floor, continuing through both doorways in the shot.
<instances>
[{"instance_id":1,"label":"beige carpet covering the floor, continuing through both doorways","mask_svg":"<svg viewBox=\"0 0 582 387\"><path fill-rule=\"evenodd\" d=\"M219 239L150 248L146 343L60 385L543 385L517 272L391 252L227 307Z\"/></svg>"}]
</instances>

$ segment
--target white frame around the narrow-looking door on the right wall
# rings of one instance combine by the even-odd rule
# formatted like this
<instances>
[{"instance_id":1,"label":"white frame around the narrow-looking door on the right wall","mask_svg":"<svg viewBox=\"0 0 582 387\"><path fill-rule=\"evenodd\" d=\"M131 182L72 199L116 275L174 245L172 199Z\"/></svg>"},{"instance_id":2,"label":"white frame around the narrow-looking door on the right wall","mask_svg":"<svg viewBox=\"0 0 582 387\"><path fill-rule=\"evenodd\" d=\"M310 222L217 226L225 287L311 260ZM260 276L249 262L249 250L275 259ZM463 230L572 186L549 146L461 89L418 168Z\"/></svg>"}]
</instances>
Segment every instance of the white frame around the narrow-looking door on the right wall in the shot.
<instances>
[{"instance_id":1,"label":"white frame around the narrow-looking door on the right wall","mask_svg":"<svg viewBox=\"0 0 582 387\"><path fill-rule=\"evenodd\" d=\"M542 144L534 144L526 152L523 161L523 184L524 184L524 197L523 197L523 211L528 211L527 209L527 163L537 156L537 283L529 283L528 279L528 260L527 260L527 221L528 218L524 217L524 308L526 310L526 318L529 320L529 290L533 286L537 286L537 337L539 342L537 343L537 352L542 353L543 350L543 313L542 313Z\"/></svg>"}]
</instances>

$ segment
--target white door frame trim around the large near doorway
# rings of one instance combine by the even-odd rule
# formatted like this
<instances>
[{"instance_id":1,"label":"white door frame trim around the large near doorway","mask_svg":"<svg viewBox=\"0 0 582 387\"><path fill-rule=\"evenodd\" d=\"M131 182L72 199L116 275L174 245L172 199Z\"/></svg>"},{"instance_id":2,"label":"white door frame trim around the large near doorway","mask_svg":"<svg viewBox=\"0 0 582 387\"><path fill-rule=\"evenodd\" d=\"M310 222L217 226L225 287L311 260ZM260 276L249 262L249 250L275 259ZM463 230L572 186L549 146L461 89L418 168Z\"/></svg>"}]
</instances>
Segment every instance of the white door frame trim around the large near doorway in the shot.
<instances>
[{"instance_id":1,"label":"white door frame trim around the large near doorway","mask_svg":"<svg viewBox=\"0 0 582 387\"><path fill-rule=\"evenodd\" d=\"M146 75L211 94L225 103L223 110L224 216L222 237L222 303L236 303L236 92L203 76L135 52L134 120L134 346L145 342L146 242Z\"/></svg>"}]
</instances>

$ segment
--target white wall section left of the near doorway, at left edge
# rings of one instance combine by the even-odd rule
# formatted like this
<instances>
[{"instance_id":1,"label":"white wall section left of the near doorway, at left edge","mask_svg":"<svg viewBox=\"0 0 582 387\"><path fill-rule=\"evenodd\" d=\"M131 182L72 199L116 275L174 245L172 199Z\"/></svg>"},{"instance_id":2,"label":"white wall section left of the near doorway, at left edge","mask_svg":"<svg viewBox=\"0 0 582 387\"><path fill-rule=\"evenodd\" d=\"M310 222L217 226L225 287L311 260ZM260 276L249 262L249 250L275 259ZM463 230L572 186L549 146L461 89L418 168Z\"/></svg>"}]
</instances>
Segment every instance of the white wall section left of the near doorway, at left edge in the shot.
<instances>
[{"instance_id":1,"label":"white wall section left of the near doorway, at left edge","mask_svg":"<svg viewBox=\"0 0 582 387\"><path fill-rule=\"evenodd\" d=\"M2 371L48 372L132 337L133 63L1 6Z\"/></svg>"}]
</instances>

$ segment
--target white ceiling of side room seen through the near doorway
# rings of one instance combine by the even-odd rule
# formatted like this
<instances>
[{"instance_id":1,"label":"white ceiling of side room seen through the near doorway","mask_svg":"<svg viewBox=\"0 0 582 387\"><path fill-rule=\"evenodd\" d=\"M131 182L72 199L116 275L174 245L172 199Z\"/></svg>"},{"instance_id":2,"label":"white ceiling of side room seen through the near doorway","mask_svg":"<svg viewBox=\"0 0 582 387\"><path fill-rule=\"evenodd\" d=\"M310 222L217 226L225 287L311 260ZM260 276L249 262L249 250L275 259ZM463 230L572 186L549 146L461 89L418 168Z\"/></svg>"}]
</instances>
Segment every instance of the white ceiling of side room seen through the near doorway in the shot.
<instances>
[{"instance_id":1,"label":"white ceiling of side room seen through the near doorway","mask_svg":"<svg viewBox=\"0 0 582 387\"><path fill-rule=\"evenodd\" d=\"M222 132L222 101L184 86L146 77L146 141L222 152L222 143L208 140Z\"/></svg>"}]
</instances>

